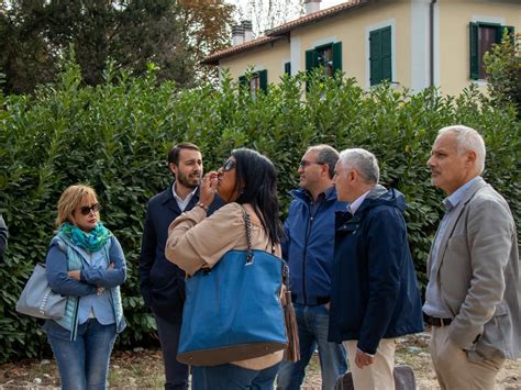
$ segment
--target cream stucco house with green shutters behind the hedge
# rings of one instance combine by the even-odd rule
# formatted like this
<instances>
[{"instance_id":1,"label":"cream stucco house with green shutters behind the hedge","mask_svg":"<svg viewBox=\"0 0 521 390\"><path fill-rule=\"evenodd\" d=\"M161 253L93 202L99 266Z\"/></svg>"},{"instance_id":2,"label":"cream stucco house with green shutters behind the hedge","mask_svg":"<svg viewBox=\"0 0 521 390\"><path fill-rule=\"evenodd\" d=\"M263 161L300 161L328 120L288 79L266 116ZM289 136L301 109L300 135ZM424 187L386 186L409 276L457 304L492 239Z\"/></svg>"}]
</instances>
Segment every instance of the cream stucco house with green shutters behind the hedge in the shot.
<instances>
[{"instance_id":1,"label":"cream stucco house with green shutters behind the hedge","mask_svg":"<svg viewBox=\"0 0 521 390\"><path fill-rule=\"evenodd\" d=\"M252 88L322 65L364 88L387 79L457 94L470 82L486 85L483 55L505 29L521 32L521 0L352 0L324 10L320 0L304 2L304 16L262 37L252 38L247 22L234 26L234 45L203 64L236 79L253 68Z\"/></svg>"}]
</instances>

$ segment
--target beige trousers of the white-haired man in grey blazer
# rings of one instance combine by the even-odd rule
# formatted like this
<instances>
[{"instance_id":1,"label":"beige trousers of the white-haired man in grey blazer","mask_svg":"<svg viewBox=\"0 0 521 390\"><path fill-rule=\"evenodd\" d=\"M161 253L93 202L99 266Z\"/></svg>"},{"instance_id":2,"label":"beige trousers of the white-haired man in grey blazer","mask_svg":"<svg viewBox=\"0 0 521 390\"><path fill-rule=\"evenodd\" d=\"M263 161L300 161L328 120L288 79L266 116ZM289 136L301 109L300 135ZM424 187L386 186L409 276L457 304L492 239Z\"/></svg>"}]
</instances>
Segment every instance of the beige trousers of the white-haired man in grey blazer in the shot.
<instances>
[{"instance_id":1,"label":"beige trousers of the white-haired man in grey blazer","mask_svg":"<svg viewBox=\"0 0 521 390\"><path fill-rule=\"evenodd\" d=\"M503 358L483 359L474 352L463 350L448 338L448 326L432 327L429 348L442 390L494 390L505 363Z\"/></svg>"}]
</instances>

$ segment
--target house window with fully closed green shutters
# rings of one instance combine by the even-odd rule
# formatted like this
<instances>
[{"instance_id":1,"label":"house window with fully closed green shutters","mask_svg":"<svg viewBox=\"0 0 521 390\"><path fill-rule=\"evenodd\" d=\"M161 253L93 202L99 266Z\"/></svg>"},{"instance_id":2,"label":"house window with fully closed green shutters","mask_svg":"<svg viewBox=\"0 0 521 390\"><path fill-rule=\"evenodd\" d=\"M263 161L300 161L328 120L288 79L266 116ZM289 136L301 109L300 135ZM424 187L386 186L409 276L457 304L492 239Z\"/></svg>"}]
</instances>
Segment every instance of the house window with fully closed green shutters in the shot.
<instances>
[{"instance_id":1,"label":"house window with fully closed green shutters","mask_svg":"<svg viewBox=\"0 0 521 390\"><path fill-rule=\"evenodd\" d=\"M369 81L372 86L392 81L391 27L369 32Z\"/></svg>"}]
</instances>

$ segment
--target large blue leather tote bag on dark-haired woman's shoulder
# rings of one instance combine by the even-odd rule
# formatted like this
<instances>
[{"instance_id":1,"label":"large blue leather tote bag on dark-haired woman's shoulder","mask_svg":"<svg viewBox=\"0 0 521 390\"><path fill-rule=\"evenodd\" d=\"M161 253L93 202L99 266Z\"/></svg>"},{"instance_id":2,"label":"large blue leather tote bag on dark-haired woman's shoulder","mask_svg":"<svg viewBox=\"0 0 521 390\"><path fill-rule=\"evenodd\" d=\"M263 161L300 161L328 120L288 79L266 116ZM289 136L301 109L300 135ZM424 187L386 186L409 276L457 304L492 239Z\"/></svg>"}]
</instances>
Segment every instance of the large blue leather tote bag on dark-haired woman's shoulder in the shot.
<instances>
[{"instance_id":1,"label":"large blue leather tote bag on dark-haired woman's shoulder","mask_svg":"<svg viewBox=\"0 0 521 390\"><path fill-rule=\"evenodd\" d=\"M230 250L211 270L186 282L177 360L217 366L285 349L288 344L280 303L281 258L252 249Z\"/></svg>"}]
</instances>

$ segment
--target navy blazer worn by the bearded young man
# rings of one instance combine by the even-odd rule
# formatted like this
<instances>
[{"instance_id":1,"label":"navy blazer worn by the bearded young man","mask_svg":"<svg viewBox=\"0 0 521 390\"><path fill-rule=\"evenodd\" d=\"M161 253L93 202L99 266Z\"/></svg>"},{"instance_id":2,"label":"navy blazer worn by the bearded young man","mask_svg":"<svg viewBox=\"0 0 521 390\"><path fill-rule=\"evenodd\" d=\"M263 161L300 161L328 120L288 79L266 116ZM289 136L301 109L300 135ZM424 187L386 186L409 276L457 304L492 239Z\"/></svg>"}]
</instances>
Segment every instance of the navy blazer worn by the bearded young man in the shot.
<instances>
[{"instance_id":1,"label":"navy blazer worn by the bearded young man","mask_svg":"<svg viewBox=\"0 0 521 390\"><path fill-rule=\"evenodd\" d=\"M186 211L199 202L199 189L188 203ZM222 207L224 202L215 196L208 215ZM154 314L162 319L179 323L185 303L185 271L165 257L168 226L181 214L171 185L157 193L147 203L145 226L140 256L140 287L143 299Z\"/></svg>"}]
</instances>

